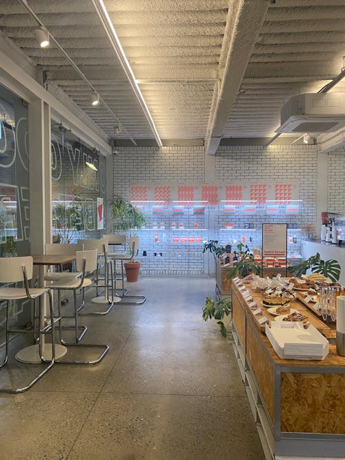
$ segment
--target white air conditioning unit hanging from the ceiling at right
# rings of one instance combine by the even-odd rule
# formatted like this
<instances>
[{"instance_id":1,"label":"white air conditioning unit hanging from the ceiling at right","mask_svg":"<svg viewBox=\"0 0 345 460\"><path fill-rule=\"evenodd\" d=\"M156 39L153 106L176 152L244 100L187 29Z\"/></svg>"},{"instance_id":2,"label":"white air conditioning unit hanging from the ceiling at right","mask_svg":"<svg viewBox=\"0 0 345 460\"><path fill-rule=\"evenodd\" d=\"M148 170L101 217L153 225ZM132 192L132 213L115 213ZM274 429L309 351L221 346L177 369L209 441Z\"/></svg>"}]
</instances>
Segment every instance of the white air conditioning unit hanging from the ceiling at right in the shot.
<instances>
[{"instance_id":1,"label":"white air conditioning unit hanging from the ceiling at right","mask_svg":"<svg viewBox=\"0 0 345 460\"><path fill-rule=\"evenodd\" d=\"M345 124L345 92L304 93L291 97L280 112L276 132L323 134Z\"/></svg>"}]
</instances>

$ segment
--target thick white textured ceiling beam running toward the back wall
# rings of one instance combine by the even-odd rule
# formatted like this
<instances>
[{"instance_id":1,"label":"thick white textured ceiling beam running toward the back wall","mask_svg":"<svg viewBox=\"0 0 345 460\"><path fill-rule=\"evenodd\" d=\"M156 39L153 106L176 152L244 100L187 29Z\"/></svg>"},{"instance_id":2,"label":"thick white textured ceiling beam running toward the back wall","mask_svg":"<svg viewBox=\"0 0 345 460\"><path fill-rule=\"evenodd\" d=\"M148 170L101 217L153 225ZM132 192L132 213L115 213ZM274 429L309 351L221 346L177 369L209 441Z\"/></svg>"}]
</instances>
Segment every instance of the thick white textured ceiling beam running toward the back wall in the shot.
<instances>
[{"instance_id":1,"label":"thick white textured ceiling beam running toward the back wall","mask_svg":"<svg viewBox=\"0 0 345 460\"><path fill-rule=\"evenodd\" d=\"M222 54L225 54L225 66L219 90L217 83L215 84L205 138L207 154L215 154L219 146L221 134L236 101L250 54L259 37L269 5L268 0L257 0L255 4L250 0L232 1L229 5L222 49Z\"/></svg>"}]
</instances>

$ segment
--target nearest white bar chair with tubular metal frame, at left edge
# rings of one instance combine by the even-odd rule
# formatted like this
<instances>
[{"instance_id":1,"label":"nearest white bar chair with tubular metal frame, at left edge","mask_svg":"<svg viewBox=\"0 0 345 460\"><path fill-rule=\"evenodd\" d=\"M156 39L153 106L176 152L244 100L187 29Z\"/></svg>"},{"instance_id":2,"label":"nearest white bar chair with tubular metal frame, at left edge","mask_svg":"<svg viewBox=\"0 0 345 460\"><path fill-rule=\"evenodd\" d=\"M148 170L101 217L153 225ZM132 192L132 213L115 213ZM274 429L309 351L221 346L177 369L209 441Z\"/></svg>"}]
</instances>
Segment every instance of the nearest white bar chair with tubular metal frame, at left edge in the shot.
<instances>
[{"instance_id":1,"label":"nearest white bar chair with tubular metal frame, at left edge","mask_svg":"<svg viewBox=\"0 0 345 460\"><path fill-rule=\"evenodd\" d=\"M0 258L0 283L12 284L23 282L23 287L10 287L10 286L1 286L0 287L0 301L6 301L6 355L3 359L3 362L0 365L2 368L6 363L8 363L8 348L10 341L10 332L20 332L20 333L37 333L38 334L38 348L39 348L39 357L43 363L49 363L42 372L39 373L28 385L23 388L2 388L1 392L8 393L22 393L34 385L41 377L48 372L48 370L55 363L55 321L59 321L59 318L54 318L54 312L52 308L52 297L50 290L48 288L29 288L28 280L32 279L32 257L8 257ZM31 299L34 301L39 299L39 317L41 317L41 297L43 294L48 294L49 298L49 310L50 310L50 324L48 326L41 327L34 330L10 330L10 302L19 301L23 299ZM35 306L35 305L34 305ZM43 357L43 346L42 346L42 334L50 334L52 337L51 343L51 359L45 359Z\"/></svg>"}]
</instances>

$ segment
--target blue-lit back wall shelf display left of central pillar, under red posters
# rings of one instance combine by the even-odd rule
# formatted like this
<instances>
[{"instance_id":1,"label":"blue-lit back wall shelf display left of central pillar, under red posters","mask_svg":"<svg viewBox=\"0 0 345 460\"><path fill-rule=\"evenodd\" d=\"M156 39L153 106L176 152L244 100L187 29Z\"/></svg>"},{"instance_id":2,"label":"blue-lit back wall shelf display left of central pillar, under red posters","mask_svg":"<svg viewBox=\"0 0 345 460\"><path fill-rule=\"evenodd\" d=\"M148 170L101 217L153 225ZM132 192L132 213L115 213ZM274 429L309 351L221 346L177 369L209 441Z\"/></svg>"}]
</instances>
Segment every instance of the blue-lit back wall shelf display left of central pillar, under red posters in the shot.
<instances>
[{"instance_id":1,"label":"blue-lit back wall shelf display left of central pillar, under red posters","mask_svg":"<svg viewBox=\"0 0 345 460\"><path fill-rule=\"evenodd\" d=\"M204 274L202 250L208 240L205 201L131 201L146 217L140 237L144 274Z\"/></svg>"}]
</instances>

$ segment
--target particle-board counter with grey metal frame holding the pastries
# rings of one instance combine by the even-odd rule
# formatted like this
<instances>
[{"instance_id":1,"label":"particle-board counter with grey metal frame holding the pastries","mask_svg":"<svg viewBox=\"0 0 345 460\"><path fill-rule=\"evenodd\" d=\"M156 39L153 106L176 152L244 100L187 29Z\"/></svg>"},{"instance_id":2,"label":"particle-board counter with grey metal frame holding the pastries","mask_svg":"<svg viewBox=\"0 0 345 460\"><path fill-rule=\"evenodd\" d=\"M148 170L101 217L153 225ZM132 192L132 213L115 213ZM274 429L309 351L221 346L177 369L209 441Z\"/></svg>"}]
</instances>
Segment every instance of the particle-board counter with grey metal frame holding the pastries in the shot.
<instances>
[{"instance_id":1,"label":"particle-board counter with grey metal frame holding the pastries","mask_svg":"<svg viewBox=\"0 0 345 460\"><path fill-rule=\"evenodd\" d=\"M345 357L330 344L323 361L280 359L258 321L274 317L265 308L254 316L239 289L233 283L234 349L266 458L345 458ZM313 317L302 303L291 306Z\"/></svg>"}]
</instances>

